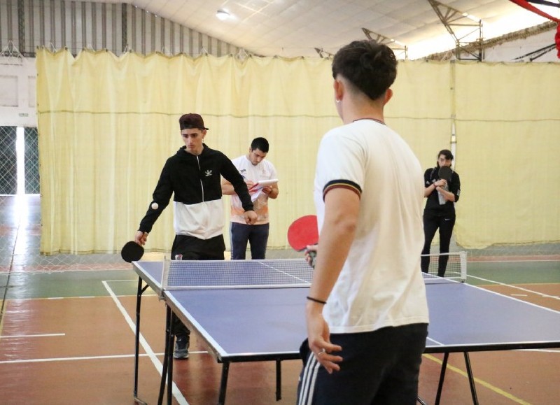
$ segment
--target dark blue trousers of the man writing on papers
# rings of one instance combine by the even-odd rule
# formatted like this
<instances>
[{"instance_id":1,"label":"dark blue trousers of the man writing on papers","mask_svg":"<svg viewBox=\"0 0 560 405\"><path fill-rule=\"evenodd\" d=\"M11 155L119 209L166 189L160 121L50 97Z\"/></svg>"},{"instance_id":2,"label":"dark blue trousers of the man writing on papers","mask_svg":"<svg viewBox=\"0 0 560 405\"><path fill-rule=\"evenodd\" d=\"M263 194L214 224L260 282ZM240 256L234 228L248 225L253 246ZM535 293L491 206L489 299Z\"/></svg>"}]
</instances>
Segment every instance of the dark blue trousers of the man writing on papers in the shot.
<instances>
[{"instance_id":1,"label":"dark blue trousers of the man writing on papers","mask_svg":"<svg viewBox=\"0 0 560 405\"><path fill-rule=\"evenodd\" d=\"M251 244L251 259L261 260L267 252L269 224L246 225L231 223L232 260L245 260L247 242Z\"/></svg>"}]
</instances>

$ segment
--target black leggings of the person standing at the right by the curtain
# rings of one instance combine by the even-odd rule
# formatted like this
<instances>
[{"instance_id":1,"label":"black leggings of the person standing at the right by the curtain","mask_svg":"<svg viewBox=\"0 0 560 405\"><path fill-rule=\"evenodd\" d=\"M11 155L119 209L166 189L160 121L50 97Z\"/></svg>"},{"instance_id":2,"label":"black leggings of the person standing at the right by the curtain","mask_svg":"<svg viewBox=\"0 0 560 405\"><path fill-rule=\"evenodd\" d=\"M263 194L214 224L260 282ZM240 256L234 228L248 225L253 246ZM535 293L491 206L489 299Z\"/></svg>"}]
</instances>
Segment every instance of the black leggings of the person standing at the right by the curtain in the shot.
<instances>
[{"instance_id":1,"label":"black leggings of the person standing at the right by the curtain","mask_svg":"<svg viewBox=\"0 0 560 405\"><path fill-rule=\"evenodd\" d=\"M430 254L430 246L437 228L440 229L440 253L449 253L449 243L451 243L451 234L455 226L455 213L433 213L431 211L424 211L424 248L422 255ZM447 267L448 255L442 255L437 263L437 276L443 277L445 268ZM421 268L424 273L428 273L430 266L430 257L422 257Z\"/></svg>"}]
</instances>

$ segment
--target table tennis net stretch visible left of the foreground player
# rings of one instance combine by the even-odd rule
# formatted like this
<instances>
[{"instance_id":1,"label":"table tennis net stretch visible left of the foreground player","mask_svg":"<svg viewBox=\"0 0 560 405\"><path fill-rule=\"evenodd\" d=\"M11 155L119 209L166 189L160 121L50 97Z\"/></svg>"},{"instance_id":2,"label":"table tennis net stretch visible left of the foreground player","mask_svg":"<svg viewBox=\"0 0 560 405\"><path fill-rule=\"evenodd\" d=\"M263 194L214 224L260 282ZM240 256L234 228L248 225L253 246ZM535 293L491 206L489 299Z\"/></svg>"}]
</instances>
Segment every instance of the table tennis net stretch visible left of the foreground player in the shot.
<instances>
[{"instance_id":1,"label":"table tennis net stretch visible left of the foreground player","mask_svg":"<svg viewBox=\"0 0 560 405\"><path fill-rule=\"evenodd\" d=\"M163 290L309 287L304 259L165 260Z\"/></svg>"}]
</instances>

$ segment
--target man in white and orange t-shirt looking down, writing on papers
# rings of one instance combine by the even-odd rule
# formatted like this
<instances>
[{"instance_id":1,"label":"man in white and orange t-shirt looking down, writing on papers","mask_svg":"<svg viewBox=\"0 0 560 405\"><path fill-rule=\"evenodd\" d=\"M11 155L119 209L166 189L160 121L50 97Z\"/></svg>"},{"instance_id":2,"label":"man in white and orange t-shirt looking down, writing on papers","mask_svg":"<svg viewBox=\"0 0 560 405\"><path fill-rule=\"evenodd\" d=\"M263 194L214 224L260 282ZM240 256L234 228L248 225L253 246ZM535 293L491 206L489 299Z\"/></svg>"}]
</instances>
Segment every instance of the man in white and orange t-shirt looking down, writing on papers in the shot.
<instances>
[{"instance_id":1,"label":"man in white and orange t-shirt looking down, writing on papers","mask_svg":"<svg viewBox=\"0 0 560 405\"><path fill-rule=\"evenodd\" d=\"M278 183L259 185L263 180L277 180L274 164L265 159L269 149L268 141L259 137L253 139L246 155L232 160L251 193L257 222L247 225L241 200L233 190L232 184L223 179L222 192L231 196L232 260L244 260L247 243L251 246L251 259L264 259L267 251L269 234L268 199L278 197Z\"/></svg>"}]
</instances>

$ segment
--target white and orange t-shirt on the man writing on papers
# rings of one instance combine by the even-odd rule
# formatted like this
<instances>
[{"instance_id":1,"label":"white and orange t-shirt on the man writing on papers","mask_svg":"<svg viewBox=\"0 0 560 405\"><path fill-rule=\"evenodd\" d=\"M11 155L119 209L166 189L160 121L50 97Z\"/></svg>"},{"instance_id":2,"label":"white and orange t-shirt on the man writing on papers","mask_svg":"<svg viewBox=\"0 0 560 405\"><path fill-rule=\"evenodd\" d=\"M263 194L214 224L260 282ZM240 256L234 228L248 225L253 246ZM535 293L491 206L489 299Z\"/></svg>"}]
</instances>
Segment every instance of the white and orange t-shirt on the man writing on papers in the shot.
<instances>
[{"instance_id":1,"label":"white and orange t-shirt on the man writing on papers","mask_svg":"<svg viewBox=\"0 0 560 405\"><path fill-rule=\"evenodd\" d=\"M254 183L258 183L261 180L272 180L276 177L276 169L274 164L270 163L267 159L262 159L258 164L253 165L246 155L236 157L232 160L237 170L247 180L252 180ZM255 225L267 224L269 222L268 218L268 194L265 194L261 190L256 190L251 192L251 199L253 200L253 208L257 214L257 222ZM244 209L241 206L241 200L234 194L231 196L231 221L239 222L244 224Z\"/></svg>"}]
</instances>

